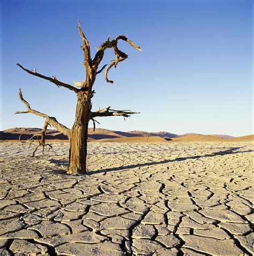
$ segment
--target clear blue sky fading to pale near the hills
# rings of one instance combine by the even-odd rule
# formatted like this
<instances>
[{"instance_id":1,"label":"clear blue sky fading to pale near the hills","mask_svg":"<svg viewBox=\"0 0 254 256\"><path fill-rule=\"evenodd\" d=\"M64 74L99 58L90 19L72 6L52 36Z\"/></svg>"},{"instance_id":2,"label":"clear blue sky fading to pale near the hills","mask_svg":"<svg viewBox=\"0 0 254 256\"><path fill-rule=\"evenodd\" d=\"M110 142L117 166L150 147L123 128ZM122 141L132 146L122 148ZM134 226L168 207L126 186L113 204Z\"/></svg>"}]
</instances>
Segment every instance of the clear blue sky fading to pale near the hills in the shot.
<instances>
[{"instance_id":1,"label":"clear blue sky fading to pale near the hills","mask_svg":"<svg viewBox=\"0 0 254 256\"><path fill-rule=\"evenodd\" d=\"M253 133L252 12L249 0L27 1L1 0L1 130L42 127L33 109L71 128L76 94L21 70L37 68L72 84L85 79L77 23L92 56L108 35L127 34L119 49L129 58L94 84L93 109L140 111L126 118L98 118L98 127L172 133ZM112 49L102 65L114 58ZM92 126L92 124L91 124Z\"/></svg>"}]
</instances>

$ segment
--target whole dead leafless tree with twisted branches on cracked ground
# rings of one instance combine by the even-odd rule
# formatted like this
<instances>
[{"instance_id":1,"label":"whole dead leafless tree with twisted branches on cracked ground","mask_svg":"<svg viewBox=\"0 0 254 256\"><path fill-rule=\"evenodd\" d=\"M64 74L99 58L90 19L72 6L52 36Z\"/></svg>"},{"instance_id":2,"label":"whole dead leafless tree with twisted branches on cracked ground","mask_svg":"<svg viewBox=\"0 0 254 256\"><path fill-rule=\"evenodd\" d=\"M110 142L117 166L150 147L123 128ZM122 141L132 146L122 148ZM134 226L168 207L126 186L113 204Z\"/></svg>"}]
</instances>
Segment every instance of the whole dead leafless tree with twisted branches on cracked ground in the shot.
<instances>
[{"instance_id":1,"label":"whole dead leafless tree with twisted branches on cracked ground","mask_svg":"<svg viewBox=\"0 0 254 256\"><path fill-rule=\"evenodd\" d=\"M77 106L76 106L76 118L74 120L74 124L72 129L68 129L63 124L60 124L55 117L50 117L44 113L31 109L29 103L25 101L21 90L19 89L19 97L23 103L26 104L27 110L18 111L16 113L33 113L34 115L41 116L45 119L47 124L50 126L54 126L56 130L62 132L64 135L68 136L70 141L70 149L69 149L69 166L68 166L68 174L79 174L86 173L86 155L87 155L87 133L88 133L88 123L89 120L92 120L94 125L96 117L108 117L108 116L123 116L129 117L130 115L138 112L132 112L129 110L113 110L107 108L99 111L92 112L92 103L91 99L94 95L93 84L95 82L96 75L100 74L104 68L106 68L104 77L108 83L113 83L113 81L108 79L108 72L110 68L117 66L118 62L121 62L128 58L128 55L124 52L120 51L117 47L117 43L119 40L123 40L128 42L132 47L141 51L140 46L133 44L133 42L126 38L126 35L118 35L118 37L110 40L108 37L106 41L104 41L99 47L96 48L97 52L94 58L91 58L90 46L89 42L86 39L83 31L81 30L80 23L78 22L78 30L83 42L81 49L84 52L84 66L86 69L86 78L84 81L79 84L79 88L71 86L70 84L63 83L57 80L56 76L48 77L38 73L37 69L29 70L24 68L23 66L17 64L21 69L26 71L28 74L41 77L42 79L48 80L57 87L64 87L69 90L74 91L77 94ZM114 60L111 61L109 65L104 65L99 69L99 65L103 59L104 51L106 49L112 48L113 52L116 56ZM74 83L75 84L75 83Z\"/></svg>"}]
</instances>

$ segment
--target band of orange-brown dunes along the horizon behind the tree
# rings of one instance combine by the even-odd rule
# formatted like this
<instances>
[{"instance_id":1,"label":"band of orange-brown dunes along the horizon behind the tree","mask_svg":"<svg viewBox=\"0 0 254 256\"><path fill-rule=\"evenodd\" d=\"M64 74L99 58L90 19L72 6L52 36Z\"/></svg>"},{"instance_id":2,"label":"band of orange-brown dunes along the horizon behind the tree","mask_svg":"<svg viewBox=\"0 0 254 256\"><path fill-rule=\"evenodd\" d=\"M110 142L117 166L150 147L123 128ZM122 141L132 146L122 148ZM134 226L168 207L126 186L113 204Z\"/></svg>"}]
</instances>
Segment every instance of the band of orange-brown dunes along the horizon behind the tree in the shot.
<instances>
[{"instance_id":1,"label":"band of orange-brown dunes along the horizon behind the tree","mask_svg":"<svg viewBox=\"0 0 254 256\"><path fill-rule=\"evenodd\" d=\"M21 139L27 140L33 135L38 135L40 138L41 129L39 128L23 128L16 127L11 128L5 131L0 131L0 140L18 140L20 134L22 134ZM144 131L130 131L130 132L121 132L113 131L108 129L96 128L93 131L93 128L88 129L88 141L136 141L142 142L146 141ZM197 133L185 133L185 134L175 134L170 132L151 132L148 141L150 142L162 142L162 141L171 141L171 142L188 142L188 141L251 141L254 140L254 135L243 136L234 138L228 135L222 134L212 134L204 135ZM68 138L56 130L47 130L48 140L68 140Z\"/></svg>"}]
</instances>

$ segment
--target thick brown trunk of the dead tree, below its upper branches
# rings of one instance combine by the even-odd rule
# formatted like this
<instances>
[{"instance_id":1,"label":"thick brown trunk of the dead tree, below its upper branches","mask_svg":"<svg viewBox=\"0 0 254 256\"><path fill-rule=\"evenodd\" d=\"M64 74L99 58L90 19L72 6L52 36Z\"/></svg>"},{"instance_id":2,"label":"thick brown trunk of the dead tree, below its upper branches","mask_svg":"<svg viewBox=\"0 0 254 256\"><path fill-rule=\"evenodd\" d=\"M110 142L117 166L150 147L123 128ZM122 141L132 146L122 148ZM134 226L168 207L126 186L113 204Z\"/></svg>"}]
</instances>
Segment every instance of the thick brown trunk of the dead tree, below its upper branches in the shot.
<instances>
[{"instance_id":1,"label":"thick brown trunk of the dead tree, below its upper branches","mask_svg":"<svg viewBox=\"0 0 254 256\"><path fill-rule=\"evenodd\" d=\"M78 93L76 119L70 131L68 174L86 173L87 133L91 98L84 91Z\"/></svg>"}]
</instances>

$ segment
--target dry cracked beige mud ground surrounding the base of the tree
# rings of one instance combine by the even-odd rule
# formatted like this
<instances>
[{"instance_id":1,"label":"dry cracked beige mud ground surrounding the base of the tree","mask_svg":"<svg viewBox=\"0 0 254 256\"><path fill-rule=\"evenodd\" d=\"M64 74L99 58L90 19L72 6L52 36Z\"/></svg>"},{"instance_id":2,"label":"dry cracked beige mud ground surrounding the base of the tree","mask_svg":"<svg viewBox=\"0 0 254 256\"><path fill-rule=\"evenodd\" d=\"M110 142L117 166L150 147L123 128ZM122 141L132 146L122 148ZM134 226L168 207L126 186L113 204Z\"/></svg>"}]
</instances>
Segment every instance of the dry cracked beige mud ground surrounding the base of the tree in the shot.
<instances>
[{"instance_id":1,"label":"dry cracked beige mud ground surrounding the base of the tree","mask_svg":"<svg viewBox=\"0 0 254 256\"><path fill-rule=\"evenodd\" d=\"M1 143L0 254L251 255L251 143Z\"/></svg>"}]
</instances>

